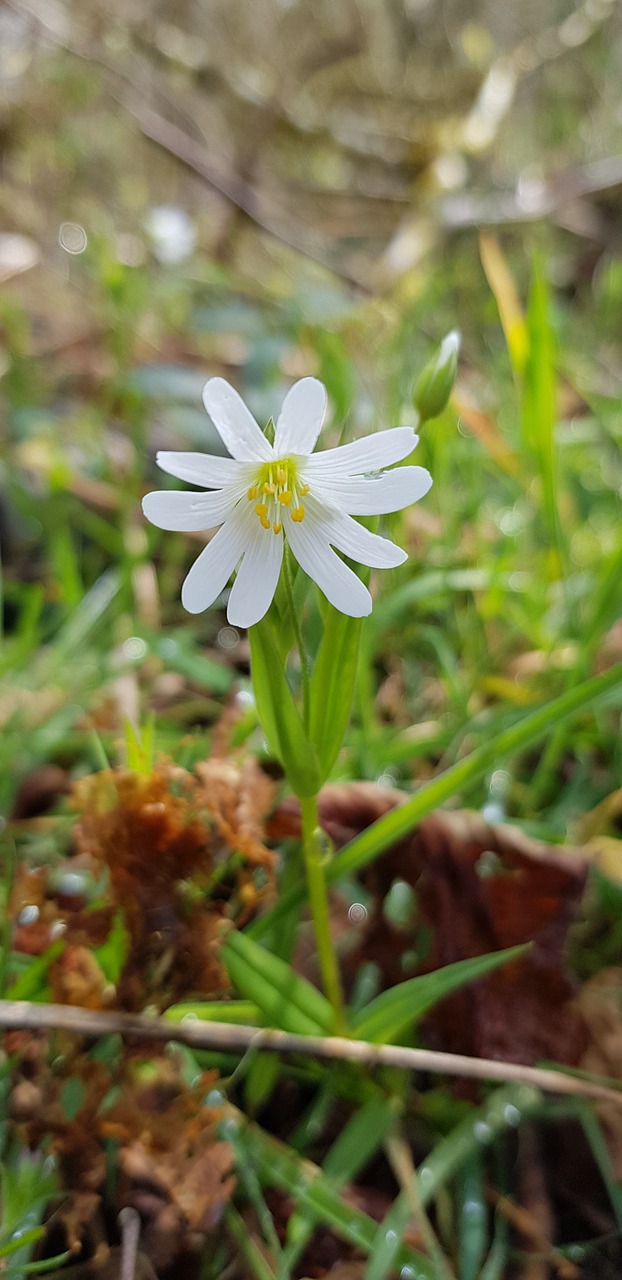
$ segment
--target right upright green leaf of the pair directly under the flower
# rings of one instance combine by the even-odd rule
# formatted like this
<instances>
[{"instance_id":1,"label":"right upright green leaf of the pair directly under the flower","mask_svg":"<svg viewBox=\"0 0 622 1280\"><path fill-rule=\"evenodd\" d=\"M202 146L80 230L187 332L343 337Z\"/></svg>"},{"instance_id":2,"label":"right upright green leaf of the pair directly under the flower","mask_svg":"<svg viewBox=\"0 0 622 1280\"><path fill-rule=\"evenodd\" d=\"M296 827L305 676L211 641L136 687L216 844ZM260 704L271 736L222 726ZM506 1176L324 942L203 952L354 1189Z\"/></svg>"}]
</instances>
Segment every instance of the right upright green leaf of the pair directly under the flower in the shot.
<instances>
[{"instance_id":1,"label":"right upright green leaf of the pair directly under the flower","mask_svg":"<svg viewBox=\"0 0 622 1280\"><path fill-rule=\"evenodd\" d=\"M310 737L324 781L339 754L348 726L362 618L351 618L328 605L324 635L311 676Z\"/></svg>"}]
</instances>

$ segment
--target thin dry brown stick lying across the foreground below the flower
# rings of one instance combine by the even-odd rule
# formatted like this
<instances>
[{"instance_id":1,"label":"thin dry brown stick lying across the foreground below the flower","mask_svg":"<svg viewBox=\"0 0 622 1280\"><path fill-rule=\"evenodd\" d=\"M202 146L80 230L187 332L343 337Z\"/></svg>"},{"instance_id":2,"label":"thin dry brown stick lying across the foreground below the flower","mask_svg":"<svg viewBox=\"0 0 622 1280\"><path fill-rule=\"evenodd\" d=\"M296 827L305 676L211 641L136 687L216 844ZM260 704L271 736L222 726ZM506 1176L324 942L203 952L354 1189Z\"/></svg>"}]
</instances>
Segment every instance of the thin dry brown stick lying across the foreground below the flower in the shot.
<instances>
[{"instance_id":1,"label":"thin dry brown stick lying across the foreground below the flower","mask_svg":"<svg viewBox=\"0 0 622 1280\"><path fill-rule=\"evenodd\" d=\"M363 1062L365 1066L398 1066L410 1071L434 1071L439 1075L461 1075L474 1080L503 1080L531 1084L548 1093L598 1098L622 1106L622 1088L610 1089L576 1075L520 1062L497 1062L493 1059L467 1057L463 1053L440 1053L427 1048L404 1048L401 1044L370 1044L367 1041L342 1036L294 1036L274 1028L238 1027L230 1023L174 1023L168 1018L145 1018L140 1014L93 1012L68 1005L36 1005L27 1000L0 1000L0 1028L6 1030L63 1030L77 1036L119 1034L125 1039L165 1043L177 1041L189 1048L241 1052L255 1050L267 1053L302 1053L320 1060Z\"/></svg>"}]
</instances>

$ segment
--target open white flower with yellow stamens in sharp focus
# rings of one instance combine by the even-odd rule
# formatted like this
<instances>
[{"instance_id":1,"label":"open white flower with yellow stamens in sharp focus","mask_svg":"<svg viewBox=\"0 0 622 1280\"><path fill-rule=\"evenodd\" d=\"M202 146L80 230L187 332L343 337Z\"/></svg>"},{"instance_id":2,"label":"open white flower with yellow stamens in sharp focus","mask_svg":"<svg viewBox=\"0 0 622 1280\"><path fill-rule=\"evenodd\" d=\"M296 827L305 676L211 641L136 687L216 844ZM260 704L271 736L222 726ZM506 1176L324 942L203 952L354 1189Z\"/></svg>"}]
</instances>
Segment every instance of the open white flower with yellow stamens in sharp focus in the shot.
<instances>
[{"instance_id":1,"label":"open white flower with yellow stamens in sharp focus","mask_svg":"<svg viewBox=\"0 0 622 1280\"><path fill-rule=\"evenodd\" d=\"M274 445L223 378L206 384L203 404L232 456L159 453L163 471L207 492L150 493L142 504L159 529L221 526L183 584L184 608L209 608L237 567L227 617L237 627L259 622L276 590L287 538L301 568L337 609L355 618L370 613L367 588L333 548L374 568L407 558L352 516L399 511L427 493L424 467L381 471L412 452L415 431L397 426L312 454L326 410L326 390L315 378L302 378L285 396Z\"/></svg>"}]
</instances>

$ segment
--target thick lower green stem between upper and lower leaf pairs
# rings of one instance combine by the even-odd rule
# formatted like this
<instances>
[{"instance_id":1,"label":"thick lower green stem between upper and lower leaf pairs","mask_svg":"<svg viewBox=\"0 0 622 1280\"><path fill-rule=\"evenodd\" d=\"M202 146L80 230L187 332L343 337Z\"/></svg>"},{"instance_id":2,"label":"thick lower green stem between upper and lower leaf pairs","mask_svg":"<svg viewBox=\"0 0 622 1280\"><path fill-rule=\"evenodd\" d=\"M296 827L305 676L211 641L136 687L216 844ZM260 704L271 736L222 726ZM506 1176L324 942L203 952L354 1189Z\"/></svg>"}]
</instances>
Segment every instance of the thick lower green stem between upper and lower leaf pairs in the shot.
<instances>
[{"instance_id":1,"label":"thick lower green stem between upper and lower leaf pairs","mask_svg":"<svg viewBox=\"0 0 622 1280\"><path fill-rule=\"evenodd\" d=\"M317 796L301 797L302 852L307 876L308 902L324 991L333 1005L335 1034L346 1030L342 979L330 929L329 897L324 876L324 836L317 817Z\"/></svg>"}]
</instances>

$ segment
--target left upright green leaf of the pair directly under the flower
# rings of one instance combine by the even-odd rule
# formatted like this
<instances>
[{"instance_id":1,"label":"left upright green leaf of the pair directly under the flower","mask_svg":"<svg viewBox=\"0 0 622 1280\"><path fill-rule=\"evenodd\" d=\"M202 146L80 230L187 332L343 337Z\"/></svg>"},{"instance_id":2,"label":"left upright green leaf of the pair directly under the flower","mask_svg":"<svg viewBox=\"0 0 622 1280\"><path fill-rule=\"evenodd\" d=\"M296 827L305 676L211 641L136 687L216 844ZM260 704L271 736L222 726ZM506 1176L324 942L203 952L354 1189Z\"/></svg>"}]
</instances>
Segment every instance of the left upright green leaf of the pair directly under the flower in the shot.
<instances>
[{"instance_id":1,"label":"left upright green leaf of the pair directly under the flower","mask_svg":"<svg viewBox=\"0 0 622 1280\"><path fill-rule=\"evenodd\" d=\"M321 776L305 732L270 618L248 628L255 700L264 732L297 796L316 795Z\"/></svg>"}]
</instances>

